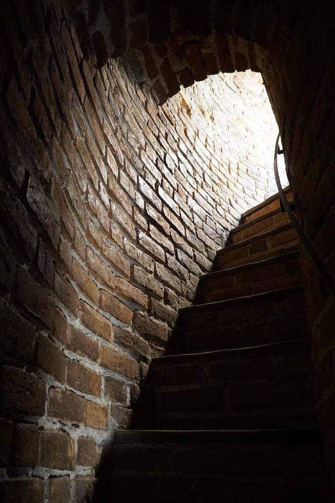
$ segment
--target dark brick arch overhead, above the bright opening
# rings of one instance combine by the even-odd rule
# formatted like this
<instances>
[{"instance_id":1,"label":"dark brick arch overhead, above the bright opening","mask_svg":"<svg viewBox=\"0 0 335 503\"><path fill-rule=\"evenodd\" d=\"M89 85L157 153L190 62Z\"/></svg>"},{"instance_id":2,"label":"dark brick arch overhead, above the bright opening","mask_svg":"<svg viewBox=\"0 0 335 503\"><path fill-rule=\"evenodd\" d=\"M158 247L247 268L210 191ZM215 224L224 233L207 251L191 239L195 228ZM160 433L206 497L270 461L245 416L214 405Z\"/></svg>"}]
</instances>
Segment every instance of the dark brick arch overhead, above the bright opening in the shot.
<instances>
[{"instance_id":1,"label":"dark brick arch overhead, above the bright opening","mask_svg":"<svg viewBox=\"0 0 335 503\"><path fill-rule=\"evenodd\" d=\"M125 54L159 103L219 72L261 71L282 27L281 7L262 0L82 0L79 37L98 67ZM274 3L275 4L275 3Z\"/></svg>"}]
</instances>

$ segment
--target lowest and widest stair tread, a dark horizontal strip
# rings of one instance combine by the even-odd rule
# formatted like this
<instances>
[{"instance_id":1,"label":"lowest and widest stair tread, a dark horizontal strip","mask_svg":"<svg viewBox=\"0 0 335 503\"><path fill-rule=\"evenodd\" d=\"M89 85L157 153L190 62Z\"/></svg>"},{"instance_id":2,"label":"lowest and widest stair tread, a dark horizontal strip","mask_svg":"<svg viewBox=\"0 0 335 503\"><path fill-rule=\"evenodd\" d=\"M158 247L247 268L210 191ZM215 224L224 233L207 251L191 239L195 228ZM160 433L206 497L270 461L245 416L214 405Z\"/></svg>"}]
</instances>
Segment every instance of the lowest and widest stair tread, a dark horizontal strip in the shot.
<instances>
[{"instance_id":1,"label":"lowest and widest stair tread, a dark horizontal strip","mask_svg":"<svg viewBox=\"0 0 335 503\"><path fill-rule=\"evenodd\" d=\"M272 430L115 430L113 443L280 443L322 444L318 428Z\"/></svg>"}]
</instances>

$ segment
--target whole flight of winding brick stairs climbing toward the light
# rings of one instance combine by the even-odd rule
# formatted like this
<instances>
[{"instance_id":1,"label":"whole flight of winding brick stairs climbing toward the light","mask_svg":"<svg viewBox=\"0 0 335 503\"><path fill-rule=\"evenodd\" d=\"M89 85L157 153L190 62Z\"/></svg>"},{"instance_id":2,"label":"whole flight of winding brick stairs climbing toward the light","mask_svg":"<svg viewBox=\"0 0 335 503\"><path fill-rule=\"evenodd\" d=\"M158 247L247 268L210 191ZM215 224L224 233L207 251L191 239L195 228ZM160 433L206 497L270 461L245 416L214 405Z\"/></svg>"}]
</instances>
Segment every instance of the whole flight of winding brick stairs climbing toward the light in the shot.
<instances>
[{"instance_id":1,"label":"whole flight of winding brick stairs climbing toward the light","mask_svg":"<svg viewBox=\"0 0 335 503\"><path fill-rule=\"evenodd\" d=\"M325 501L299 241L278 196L230 242L152 360L134 429L114 432L108 501Z\"/></svg>"}]
</instances>

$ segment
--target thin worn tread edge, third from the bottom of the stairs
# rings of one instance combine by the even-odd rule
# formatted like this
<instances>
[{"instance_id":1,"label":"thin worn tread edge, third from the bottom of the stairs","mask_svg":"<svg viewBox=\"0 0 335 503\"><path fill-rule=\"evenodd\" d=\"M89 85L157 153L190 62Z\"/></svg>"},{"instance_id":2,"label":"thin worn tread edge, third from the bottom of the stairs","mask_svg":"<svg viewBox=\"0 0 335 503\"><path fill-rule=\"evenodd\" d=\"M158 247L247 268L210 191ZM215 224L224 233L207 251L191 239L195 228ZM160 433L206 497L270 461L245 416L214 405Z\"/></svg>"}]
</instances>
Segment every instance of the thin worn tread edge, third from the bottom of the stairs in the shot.
<instances>
[{"instance_id":1,"label":"thin worn tread edge, third from the bottom of the stairs","mask_svg":"<svg viewBox=\"0 0 335 503\"><path fill-rule=\"evenodd\" d=\"M236 297L234 299L219 300L218 302L209 302L207 304L197 304L179 309L179 315L185 316L189 313L205 313L206 311L219 311L226 306L235 306L245 303L262 302L267 300L280 300L290 294L303 293L303 285L288 286L286 288L278 288L270 292L262 294L247 295L246 297Z\"/></svg>"}]
</instances>

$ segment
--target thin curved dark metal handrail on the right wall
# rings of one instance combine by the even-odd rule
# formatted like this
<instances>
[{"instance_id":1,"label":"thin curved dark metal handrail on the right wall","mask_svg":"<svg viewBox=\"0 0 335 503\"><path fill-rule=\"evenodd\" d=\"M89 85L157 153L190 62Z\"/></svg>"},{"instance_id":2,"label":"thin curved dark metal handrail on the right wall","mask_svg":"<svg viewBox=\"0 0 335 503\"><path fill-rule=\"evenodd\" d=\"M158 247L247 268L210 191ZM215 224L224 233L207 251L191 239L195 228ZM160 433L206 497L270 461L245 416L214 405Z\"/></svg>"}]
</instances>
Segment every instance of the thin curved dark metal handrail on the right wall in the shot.
<instances>
[{"instance_id":1,"label":"thin curved dark metal handrail on the right wall","mask_svg":"<svg viewBox=\"0 0 335 503\"><path fill-rule=\"evenodd\" d=\"M299 239L303 246L305 247L307 253L309 254L310 258L312 261L315 263L317 266L320 276L330 289L331 293L335 296L335 281L331 277L331 275L328 273L328 270L324 266L324 263L322 260L319 258L318 254L316 253L315 249L313 248L312 244L308 240L306 234L304 233L303 229L301 228L294 212L292 211L290 203L287 201L285 192L283 191L283 188L280 183L279 179L279 173L278 173L278 164L277 164L277 156L278 154L283 153L283 150L279 149L279 138L280 138L280 133L278 133L277 141L276 141L276 148L275 148L275 159L274 159L274 169L275 169L275 178L276 178L276 183L278 187L278 192L279 192L279 197L281 200L281 203L291 221L291 224L293 227L296 229L297 234L299 236Z\"/></svg>"}]
</instances>

